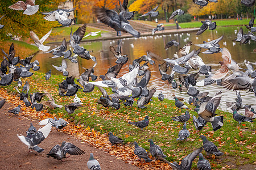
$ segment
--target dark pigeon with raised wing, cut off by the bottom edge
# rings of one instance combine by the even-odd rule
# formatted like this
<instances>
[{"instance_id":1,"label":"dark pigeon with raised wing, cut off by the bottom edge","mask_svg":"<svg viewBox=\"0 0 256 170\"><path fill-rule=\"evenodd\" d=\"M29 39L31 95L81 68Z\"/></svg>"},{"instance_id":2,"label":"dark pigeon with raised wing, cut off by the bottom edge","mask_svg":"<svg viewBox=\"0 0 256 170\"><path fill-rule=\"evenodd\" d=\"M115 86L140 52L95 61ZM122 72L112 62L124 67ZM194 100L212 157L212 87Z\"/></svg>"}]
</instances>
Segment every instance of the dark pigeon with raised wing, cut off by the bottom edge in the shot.
<instances>
[{"instance_id":1,"label":"dark pigeon with raised wing, cut off by the bottom edge","mask_svg":"<svg viewBox=\"0 0 256 170\"><path fill-rule=\"evenodd\" d=\"M176 162L170 163L172 169L174 170L189 170L192 167L193 160L195 160L196 156L200 154L200 152L203 150L203 147L197 148L192 153L188 154L185 158L181 160L180 165Z\"/></svg>"}]
</instances>

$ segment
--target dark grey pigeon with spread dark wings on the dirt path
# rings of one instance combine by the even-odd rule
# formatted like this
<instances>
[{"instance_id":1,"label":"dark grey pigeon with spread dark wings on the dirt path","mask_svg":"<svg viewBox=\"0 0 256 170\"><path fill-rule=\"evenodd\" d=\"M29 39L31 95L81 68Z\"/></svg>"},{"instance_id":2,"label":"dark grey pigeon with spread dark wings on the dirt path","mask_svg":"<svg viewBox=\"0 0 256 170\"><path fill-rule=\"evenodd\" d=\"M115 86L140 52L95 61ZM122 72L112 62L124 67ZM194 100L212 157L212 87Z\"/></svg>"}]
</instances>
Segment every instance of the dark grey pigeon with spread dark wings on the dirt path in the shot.
<instances>
[{"instance_id":1,"label":"dark grey pigeon with spread dark wings on the dirt path","mask_svg":"<svg viewBox=\"0 0 256 170\"><path fill-rule=\"evenodd\" d=\"M85 152L83 150L81 150L79 147L73 145L72 143L64 141L64 142L61 143L61 146L59 146L59 145L53 146L51 151L49 151L49 153L46 156L48 158L53 157L57 160L62 161L63 158L68 158L68 157L66 157L67 153L70 154L70 155L85 154Z\"/></svg>"}]
</instances>

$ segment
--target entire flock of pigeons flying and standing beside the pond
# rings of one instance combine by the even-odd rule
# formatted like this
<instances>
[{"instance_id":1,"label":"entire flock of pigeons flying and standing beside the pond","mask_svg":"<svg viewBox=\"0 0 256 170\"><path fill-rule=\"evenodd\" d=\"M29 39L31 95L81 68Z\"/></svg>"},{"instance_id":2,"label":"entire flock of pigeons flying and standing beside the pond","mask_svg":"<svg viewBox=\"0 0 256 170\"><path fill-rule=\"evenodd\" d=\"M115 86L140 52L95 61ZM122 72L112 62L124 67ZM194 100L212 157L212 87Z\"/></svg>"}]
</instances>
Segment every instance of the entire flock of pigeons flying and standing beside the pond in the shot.
<instances>
[{"instance_id":1,"label":"entire flock of pigeons flying and standing beside the pond","mask_svg":"<svg viewBox=\"0 0 256 170\"><path fill-rule=\"evenodd\" d=\"M198 1L199 2L199 1ZM202 1L203 2L203 1ZM208 1L206 1L208 3ZM242 1L243 2L243 1ZM247 1L245 1L247 2ZM196 2L195 2L196 3ZM126 31L129 32L134 37L139 37L140 33L134 30L127 20L133 18L134 12L127 11L127 4L128 1L123 1L121 5L121 12L118 14L113 10L107 10L104 7L94 7L94 13L96 14L97 18L100 19L101 22L110 25L110 27L114 28L117 31ZM205 6L203 3L200 2L200 6ZM14 10L24 10L24 14L32 15L38 10L38 6L34 5L34 1L27 0L26 3L22 3L19 1L15 3L15 5L10 6L10 8ZM158 7L154 8L154 10L147 12L142 16L151 15L151 16L158 16L158 12L156 12ZM60 24L64 26L69 26L72 22L68 19L68 12L72 10L56 10L52 12L44 13L47 16L45 19L47 20L57 20ZM182 15L184 12L182 11L175 11L171 18L175 15ZM249 25L247 26L251 32L255 31L255 27L253 27L254 18L251 19ZM209 29L215 29L216 23L212 23L208 20L202 22L203 25L200 28L197 35L203 33L208 27ZM177 88L177 82L174 79L175 74L179 78L179 91L185 89L187 94L191 96L189 98L189 104L195 105L195 111L198 113L198 118L193 116L193 123L197 130L202 130L207 122L210 122L212 125L213 131L220 129L224 124L224 116L216 116L215 112L220 104L222 91L218 91L215 96L207 96L208 92L200 93L194 86L207 86L212 83L217 83L227 88L229 90L237 90L237 99L236 101L230 103L227 102L226 105L230 109L233 110L233 118L234 120L238 121L239 124L241 122L253 122L253 119L256 117L256 112L253 108L249 111L250 105L245 105L242 103L242 98L240 95L239 90L249 90L254 92L256 96L256 70L253 70L253 66L251 62L246 61L247 69L245 72L242 71L241 67L238 66L236 62L232 60L232 56L228 49L221 48L218 42L220 42L223 38L216 40L212 40L209 42L203 42L202 44L192 44L192 42L188 42L183 48L180 48L179 51L174 54L174 58L166 58L163 59L162 57L152 53L147 52L144 56L139 57L138 59L134 59L131 65L129 65L129 72L123 74L119 78L117 78L119 71L122 69L123 65L126 64L128 61L127 55L122 54L122 40L118 41L117 49L114 46L110 46L110 51L113 53L113 56L117 58L115 62L116 65L109 68L105 75L100 75L99 78L102 80L97 80L98 76L94 75L94 68L97 66L96 57L90 55L89 51L84 49L84 47L80 46L81 40L85 35L86 31L86 24L79 27L74 33L70 34L70 44L73 48L73 53L75 54L72 56L71 50L67 50L67 42L64 39L62 44L55 49L50 49L49 46L44 46L43 42L47 39L50 35L51 31L47 33L47 35L43 36L42 39L39 40L38 36L34 32L30 32L31 38L35 41L35 45L38 46L39 50L42 50L45 53L52 53L52 58L63 57L63 61L61 65L53 66L56 70L63 73L64 76L67 78L59 83L59 95L60 96L75 96L73 99L74 103L65 105L65 111L68 114L72 114L75 112L75 109L78 107L83 107L81 100L77 97L76 92L79 89L82 89L83 92L92 92L94 87L96 86L102 93L100 99L97 100L97 103L103 105L104 107L112 107L114 109L119 109L121 107L120 103L122 101L125 107L132 107L134 104L134 99L138 98L137 106L138 108L144 109L146 105L152 101L152 96L156 92L156 88L152 88L151 90L147 89L147 84L150 81L151 71L150 65L155 65L155 61L159 62L159 72L162 75L162 80L168 81L172 84L173 88ZM236 41L240 41L241 44L245 44L250 39L255 40L255 36L252 33L247 33L243 35L243 31L239 31L237 35ZM97 33L97 32L96 32ZM93 35L93 33L91 33ZM94 33L95 34L95 33ZM249 38L248 38L249 37ZM164 49L170 48L172 45L179 45L178 42L175 40L171 40L167 42ZM192 50L191 46L199 46L199 50ZM207 49L203 53L205 54L213 54L213 53L222 53L223 61L220 61L220 69L218 69L214 74L212 73L212 69L210 66L205 65L203 59L199 56L201 52L201 48ZM18 88L22 87L22 80L21 78L30 77L33 75L30 72L30 69L34 71L38 71L40 69L39 62L34 61L31 62L31 59L34 56L27 57L26 59L19 59L19 57L15 57L15 49L14 44L11 44L9 54L2 50L3 54L3 61L0 67L0 85L1 86L9 86L13 80L17 82L16 91L19 93L20 100L24 101L26 107L35 108L36 111L42 111L44 106L47 106L51 109L61 108L62 105L58 105L55 103L55 100L47 91L43 92L34 92L33 94L29 94L30 91L30 83L26 82L20 91ZM71 57L72 56L72 57ZM92 59L95 63L89 69L85 69L84 73L82 73L77 79L77 82L80 83L76 84L75 76L69 76L67 71L67 62L65 59L70 59L71 62L77 62L77 57L81 57L84 59ZM20 66L17 66L20 63ZM7 69L9 67L9 69ZM192 73L188 75L189 70L198 70L197 73ZM233 74L228 75L229 70L233 72ZM205 78L199 82L197 79L199 75L205 75ZM141 76L141 79L138 82L138 76ZM51 78L51 70L46 73L46 80ZM89 81L89 80L92 81ZM108 94L108 92L103 88L112 88L113 94ZM49 100L42 101L42 98L47 96ZM30 101L28 98L30 97ZM164 95L162 92L158 95L158 99L160 101L164 100ZM186 105L184 105L177 97L175 99L175 106L180 109L188 109ZM121 101L120 101L121 100ZM0 101L0 108L3 107L6 100ZM13 110L9 111L14 114L19 114L20 112L20 105L15 107ZM237 111L240 109L245 109L244 116L238 114ZM146 116L143 121L139 122L129 122L131 125L135 125L141 130L146 128L149 124L148 121L149 117ZM189 111L186 111L185 114L173 117L172 120L182 122L183 129L179 131L178 141L187 140L189 137L189 131L186 128L186 122L190 119ZM48 118L46 120L42 120L39 122L39 125L45 125L43 128L36 130L36 128L31 124L28 131L26 131L26 136L18 135L20 141L22 141L25 145L28 146L29 149L35 150L37 152L42 152L43 148L40 148L38 145L44 141L45 138L48 137L52 126L57 129L62 129L64 126L68 124L67 121L63 120L62 118L52 119ZM191 154L188 154L182 161L181 164L177 164L176 162L170 163L166 160L166 155L163 154L162 149L155 145L152 139L149 139L150 142L150 153L156 159L160 159L163 162L166 162L171 165L174 169L191 169L193 160L199 155L199 162L197 167L199 169L210 169L210 163L208 160L204 159L203 155L200 153L203 149L207 152L207 154L214 154L216 156L221 156L223 153L218 150L218 148L214 145L213 142L208 141L208 139L201 135L200 138L203 139L203 146L197 148ZM112 145L117 145L118 143L123 143L121 138L116 137L113 133L109 132L109 141ZM146 150L144 148L139 147L137 142L134 142L135 150L134 154L137 155L140 159L144 159L145 162L151 162L152 160L148 157ZM48 157L53 157L59 160L66 158L66 154L71 155L81 155L85 154L80 148L76 147L72 143L63 142L61 146L56 145L54 146L51 151L47 154ZM93 158L93 154L90 154L90 159L88 161L88 168L89 169L100 169L100 164Z\"/></svg>"}]
</instances>

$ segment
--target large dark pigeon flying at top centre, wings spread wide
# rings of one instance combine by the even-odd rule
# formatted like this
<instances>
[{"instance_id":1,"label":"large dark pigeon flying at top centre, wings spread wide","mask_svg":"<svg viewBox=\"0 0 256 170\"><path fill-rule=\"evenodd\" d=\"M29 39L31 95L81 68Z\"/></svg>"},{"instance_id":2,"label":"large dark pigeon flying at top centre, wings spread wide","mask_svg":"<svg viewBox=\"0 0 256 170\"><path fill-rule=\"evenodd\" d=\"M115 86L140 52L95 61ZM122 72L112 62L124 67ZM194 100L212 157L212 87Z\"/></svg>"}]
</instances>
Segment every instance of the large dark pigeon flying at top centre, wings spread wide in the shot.
<instances>
[{"instance_id":1,"label":"large dark pigeon flying at top centre, wings spread wide","mask_svg":"<svg viewBox=\"0 0 256 170\"><path fill-rule=\"evenodd\" d=\"M118 14L114 10L108 10L105 7L96 7L94 6L93 12L96 14L96 17L104 24L109 25L114 28L115 31L125 31L133 35L134 37L139 38L141 33L136 31L127 20L133 18L134 12L127 11L127 1L123 1L123 5L119 5L121 12Z\"/></svg>"}]
</instances>

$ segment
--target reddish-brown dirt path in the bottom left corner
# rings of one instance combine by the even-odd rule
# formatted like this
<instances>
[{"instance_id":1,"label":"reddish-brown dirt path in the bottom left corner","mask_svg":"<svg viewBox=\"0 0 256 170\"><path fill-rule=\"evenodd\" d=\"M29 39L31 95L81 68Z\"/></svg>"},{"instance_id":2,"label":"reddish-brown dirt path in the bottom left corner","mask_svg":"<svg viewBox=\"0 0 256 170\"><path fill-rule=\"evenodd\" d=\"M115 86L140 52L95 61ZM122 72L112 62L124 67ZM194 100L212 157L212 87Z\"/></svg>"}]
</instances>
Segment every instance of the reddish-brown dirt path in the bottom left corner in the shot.
<instances>
[{"instance_id":1,"label":"reddish-brown dirt path in the bottom left corner","mask_svg":"<svg viewBox=\"0 0 256 170\"><path fill-rule=\"evenodd\" d=\"M14 116L7 113L11 105L6 103L0 109L0 169L88 169L87 161L92 152L98 160L101 169L139 169L134 165L127 164L108 153L98 150L92 146L77 141L75 138L52 129L48 137L40 143L44 151L28 153L28 148L19 141L16 134L25 135L30 123L39 129L39 120L32 120L22 116ZM60 160L47 158L49 150L55 145L61 145L63 141L71 142L86 152L85 155L70 155L69 158ZM69 155L68 155L69 156Z\"/></svg>"}]
</instances>

